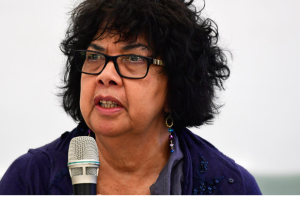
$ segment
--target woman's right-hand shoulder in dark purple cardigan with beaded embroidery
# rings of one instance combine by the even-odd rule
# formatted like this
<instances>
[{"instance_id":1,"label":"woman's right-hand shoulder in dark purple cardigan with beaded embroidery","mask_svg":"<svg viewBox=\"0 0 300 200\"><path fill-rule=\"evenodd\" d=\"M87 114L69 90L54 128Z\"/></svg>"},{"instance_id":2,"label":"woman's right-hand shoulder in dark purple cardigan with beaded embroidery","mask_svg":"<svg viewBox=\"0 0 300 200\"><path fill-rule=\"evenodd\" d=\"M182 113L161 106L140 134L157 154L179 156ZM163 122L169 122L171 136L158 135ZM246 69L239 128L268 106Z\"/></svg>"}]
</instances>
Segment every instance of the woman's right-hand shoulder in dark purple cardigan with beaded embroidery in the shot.
<instances>
[{"instance_id":1,"label":"woman's right-hand shoulder in dark purple cardigan with beaded embroidery","mask_svg":"<svg viewBox=\"0 0 300 200\"><path fill-rule=\"evenodd\" d=\"M260 196L254 177L234 160L224 155L208 141L183 129L179 136L185 156L187 194Z\"/></svg>"}]
</instances>

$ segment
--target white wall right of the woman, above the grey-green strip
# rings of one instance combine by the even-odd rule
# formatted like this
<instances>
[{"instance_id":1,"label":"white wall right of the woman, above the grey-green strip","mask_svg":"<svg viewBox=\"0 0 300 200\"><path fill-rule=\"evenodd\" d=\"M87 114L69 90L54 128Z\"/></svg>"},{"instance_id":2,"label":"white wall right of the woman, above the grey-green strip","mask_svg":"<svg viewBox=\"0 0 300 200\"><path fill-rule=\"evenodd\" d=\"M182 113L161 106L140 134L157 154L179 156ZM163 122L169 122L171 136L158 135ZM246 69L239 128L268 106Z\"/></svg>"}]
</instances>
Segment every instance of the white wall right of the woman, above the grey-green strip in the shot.
<instances>
[{"instance_id":1,"label":"white wall right of the woman, above the grey-green strip","mask_svg":"<svg viewBox=\"0 0 300 200\"><path fill-rule=\"evenodd\" d=\"M300 172L300 2L207 0L232 50L226 103L197 131L251 172Z\"/></svg>"}]
</instances>

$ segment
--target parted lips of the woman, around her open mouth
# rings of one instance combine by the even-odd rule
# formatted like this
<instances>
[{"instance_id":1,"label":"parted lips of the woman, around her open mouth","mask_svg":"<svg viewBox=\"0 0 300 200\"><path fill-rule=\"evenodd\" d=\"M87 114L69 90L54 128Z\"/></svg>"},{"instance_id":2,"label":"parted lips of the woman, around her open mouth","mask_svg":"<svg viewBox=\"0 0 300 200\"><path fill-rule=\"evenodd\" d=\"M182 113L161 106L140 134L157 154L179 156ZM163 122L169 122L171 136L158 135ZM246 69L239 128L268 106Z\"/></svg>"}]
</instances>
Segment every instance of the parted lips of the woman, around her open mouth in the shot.
<instances>
[{"instance_id":1,"label":"parted lips of the woman, around her open mouth","mask_svg":"<svg viewBox=\"0 0 300 200\"><path fill-rule=\"evenodd\" d=\"M101 100L104 100L104 101L113 101L115 103L118 104L118 107L115 107L115 108L103 108L99 105L99 101ZM102 95L98 95L94 98L94 103L95 103L95 107L96 109L103 115L112 115L112 114L115 114L115 113L118 113L120 112L122 109L123 109L123 105L122 103L112 97L112 96L102 96Z\"/></svg>"}]
</instances>

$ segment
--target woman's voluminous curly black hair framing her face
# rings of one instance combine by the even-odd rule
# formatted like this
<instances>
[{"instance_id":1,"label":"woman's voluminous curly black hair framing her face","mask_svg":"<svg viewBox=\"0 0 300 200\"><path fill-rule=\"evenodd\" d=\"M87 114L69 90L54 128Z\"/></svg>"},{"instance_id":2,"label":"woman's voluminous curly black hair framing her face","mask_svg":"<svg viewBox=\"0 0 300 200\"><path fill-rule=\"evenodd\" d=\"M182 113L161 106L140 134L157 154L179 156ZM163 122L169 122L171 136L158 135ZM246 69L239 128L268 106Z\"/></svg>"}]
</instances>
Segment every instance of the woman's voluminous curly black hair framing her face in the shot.
<instances>
[{"instance_id":1,"label":"woman's voluminous curly black hair framing her face","mask_svg":"<svg viewBox=\"0 0 300 200\"><path fill-rule=\"evenodd\" d=\"M74 51L87 49L105 33L134 41L143 36L165 63L168 76L167 102L174 128L211 123L220 105L217 89L230 75L227 57L217 45L214 21L201 16L193 0L85 0L71 15L66 38L61 43L68 57L62 88L62 106L75 120L84 122L80 107L80 78ZM96 35L101 30L100 35Z\"/></svg>"}]
</instances>

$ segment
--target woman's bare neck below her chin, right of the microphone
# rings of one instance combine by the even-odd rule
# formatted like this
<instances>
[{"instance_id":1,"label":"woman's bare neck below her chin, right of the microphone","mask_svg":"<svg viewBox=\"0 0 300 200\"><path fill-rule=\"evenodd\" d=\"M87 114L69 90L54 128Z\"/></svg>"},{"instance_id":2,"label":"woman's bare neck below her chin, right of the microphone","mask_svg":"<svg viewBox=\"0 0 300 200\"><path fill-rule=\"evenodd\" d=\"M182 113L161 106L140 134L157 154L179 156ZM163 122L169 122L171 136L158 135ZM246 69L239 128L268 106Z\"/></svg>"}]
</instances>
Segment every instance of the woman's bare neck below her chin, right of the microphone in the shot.
<instances>
[{"instance_id":1,"label":"woman's bare neck below her chin, right of the microphone","mask_svg":"<svg viewBox=\"0 0 300 200\"><path fill-rule=\"evenodd\" d=\"M143 133L125 133L118 137L97 136L103 170L127 174L159 173L170 156L169 133L165 125Z\"/></svg>"}]
</instances>

